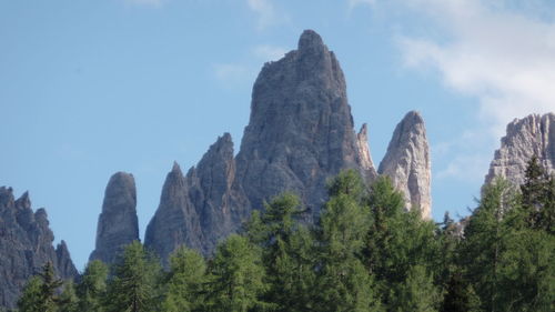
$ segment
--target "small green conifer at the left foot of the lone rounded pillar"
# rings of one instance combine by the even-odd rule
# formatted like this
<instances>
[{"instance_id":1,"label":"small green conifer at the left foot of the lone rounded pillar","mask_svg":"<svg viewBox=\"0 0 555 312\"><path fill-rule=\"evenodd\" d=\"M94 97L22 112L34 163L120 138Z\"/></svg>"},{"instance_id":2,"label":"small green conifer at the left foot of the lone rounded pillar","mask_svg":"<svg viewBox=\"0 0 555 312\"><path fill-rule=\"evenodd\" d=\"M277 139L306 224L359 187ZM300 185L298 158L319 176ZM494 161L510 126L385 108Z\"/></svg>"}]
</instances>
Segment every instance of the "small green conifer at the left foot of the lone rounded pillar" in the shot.
<instances>
[{"instance_id":1,"label":"small green conifer at the left foot of the lone rounded pillar","mask_svg":"<svg viewBox=\"0 0 555 312\"><path fill-rule=\"evenodd\" d=\"M102 299L105 296L107 280L108 266L100 260L89 262L77 286L80 311L103 311Z\"/></svg>"}]
</instances>

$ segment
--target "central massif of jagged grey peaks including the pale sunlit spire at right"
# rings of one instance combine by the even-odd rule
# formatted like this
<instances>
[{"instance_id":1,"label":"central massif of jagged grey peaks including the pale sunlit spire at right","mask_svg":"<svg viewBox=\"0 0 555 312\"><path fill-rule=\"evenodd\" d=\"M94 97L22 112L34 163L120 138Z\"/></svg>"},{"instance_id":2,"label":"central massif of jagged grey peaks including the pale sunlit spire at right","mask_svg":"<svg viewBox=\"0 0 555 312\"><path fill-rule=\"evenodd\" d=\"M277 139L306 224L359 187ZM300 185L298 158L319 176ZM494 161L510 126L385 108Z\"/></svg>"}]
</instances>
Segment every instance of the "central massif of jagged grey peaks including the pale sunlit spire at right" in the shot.
<instances>
[{"instance_id":1,"label":"central massif of jagged grey peaks including the pale sunlit spire at right","mask_svg":"<svg viewBox=\"0 0 555 312\"><path fill-rule=\"evenodd\" d=\"M397 128L396 140L404 141L392 143L383 171L406 190L408 203L423 207L430 215L424 123L420 115L410 114ZM145 245L165 265L182 244L210 254L253 209L263 209L264 201L284 191L301 197L311 212L304 221L311 222L326 200L327 179L343 169L357 170L366 182L377 175L366 125L354 132L340 64L320 36L307 30L297 50L264 64L260 72L236 157L225 133L186 175L174 165L147 229Z\"/></svg>"}]
</instances>

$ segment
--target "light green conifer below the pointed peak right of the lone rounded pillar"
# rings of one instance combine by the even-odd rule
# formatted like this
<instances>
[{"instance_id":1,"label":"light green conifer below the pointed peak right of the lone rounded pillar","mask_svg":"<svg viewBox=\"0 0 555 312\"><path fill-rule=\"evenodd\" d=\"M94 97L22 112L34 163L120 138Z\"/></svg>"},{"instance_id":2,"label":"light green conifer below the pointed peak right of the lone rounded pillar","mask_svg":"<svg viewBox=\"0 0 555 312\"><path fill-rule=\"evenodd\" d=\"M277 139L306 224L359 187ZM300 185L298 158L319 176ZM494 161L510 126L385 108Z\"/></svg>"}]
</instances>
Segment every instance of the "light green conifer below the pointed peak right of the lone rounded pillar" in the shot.
<instances>
[{"instance_id":1,"label":"light green conifer below the pointed peak right of the lone rounded pillar","mask_svg":"<svg viewBox=\"0 0 555 312\"><path fill-rule=\"evenodd\" d=\"M168 291L162 303L165 312L199 311L203 305L202 288L206 280L206 263L196 251L179 248L170 258Z\"/></svg>"}]
</instances>

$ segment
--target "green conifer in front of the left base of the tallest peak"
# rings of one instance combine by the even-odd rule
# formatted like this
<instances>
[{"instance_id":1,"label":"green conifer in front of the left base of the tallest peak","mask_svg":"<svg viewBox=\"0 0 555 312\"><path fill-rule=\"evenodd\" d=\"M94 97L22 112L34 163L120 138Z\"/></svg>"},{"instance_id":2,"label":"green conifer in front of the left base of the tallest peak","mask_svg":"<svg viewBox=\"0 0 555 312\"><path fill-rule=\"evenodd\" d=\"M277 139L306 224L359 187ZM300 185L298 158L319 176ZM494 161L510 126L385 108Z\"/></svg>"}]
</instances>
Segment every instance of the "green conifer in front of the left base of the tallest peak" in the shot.
<instances>
[{"instance_id":1,"label":"green conifer in front of the left base of the tallest peak","mask_svg":"<svg viewBox=\"0 0 555 312\"><path fill-rule=\"evenodd\" d=\"M310 291L314 281L310 232L299 225L295 217L302 211L296 195L284 193L274 198L262 214L254 213L246 225L246 235L262 248L270 290L268 302L276 311L310 310Z\"/></svg>"}]
</instances>

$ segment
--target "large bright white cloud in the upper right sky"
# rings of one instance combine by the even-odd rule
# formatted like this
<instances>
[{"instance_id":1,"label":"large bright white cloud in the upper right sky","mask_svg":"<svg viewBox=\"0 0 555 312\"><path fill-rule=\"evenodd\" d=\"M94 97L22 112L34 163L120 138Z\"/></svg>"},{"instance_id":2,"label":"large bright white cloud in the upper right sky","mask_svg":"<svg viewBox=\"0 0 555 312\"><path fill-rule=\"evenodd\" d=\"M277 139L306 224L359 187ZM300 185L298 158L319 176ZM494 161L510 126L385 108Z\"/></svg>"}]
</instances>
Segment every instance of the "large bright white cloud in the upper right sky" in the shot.
<instances>
[{"instance_id":1,"label":"large bright white cloud in the upper right sky","mask_svg":"<svg viewBox=\"0 0 555 312\"><path fill-rule=\"evenodd\" d=\"M492 134L501 135L514 118L555 111L555 22L482 0L408 2L434 18L448 40L402 36L406 66L436 69L447 87L476 97Z\"/></svg>"}]
</instances>

